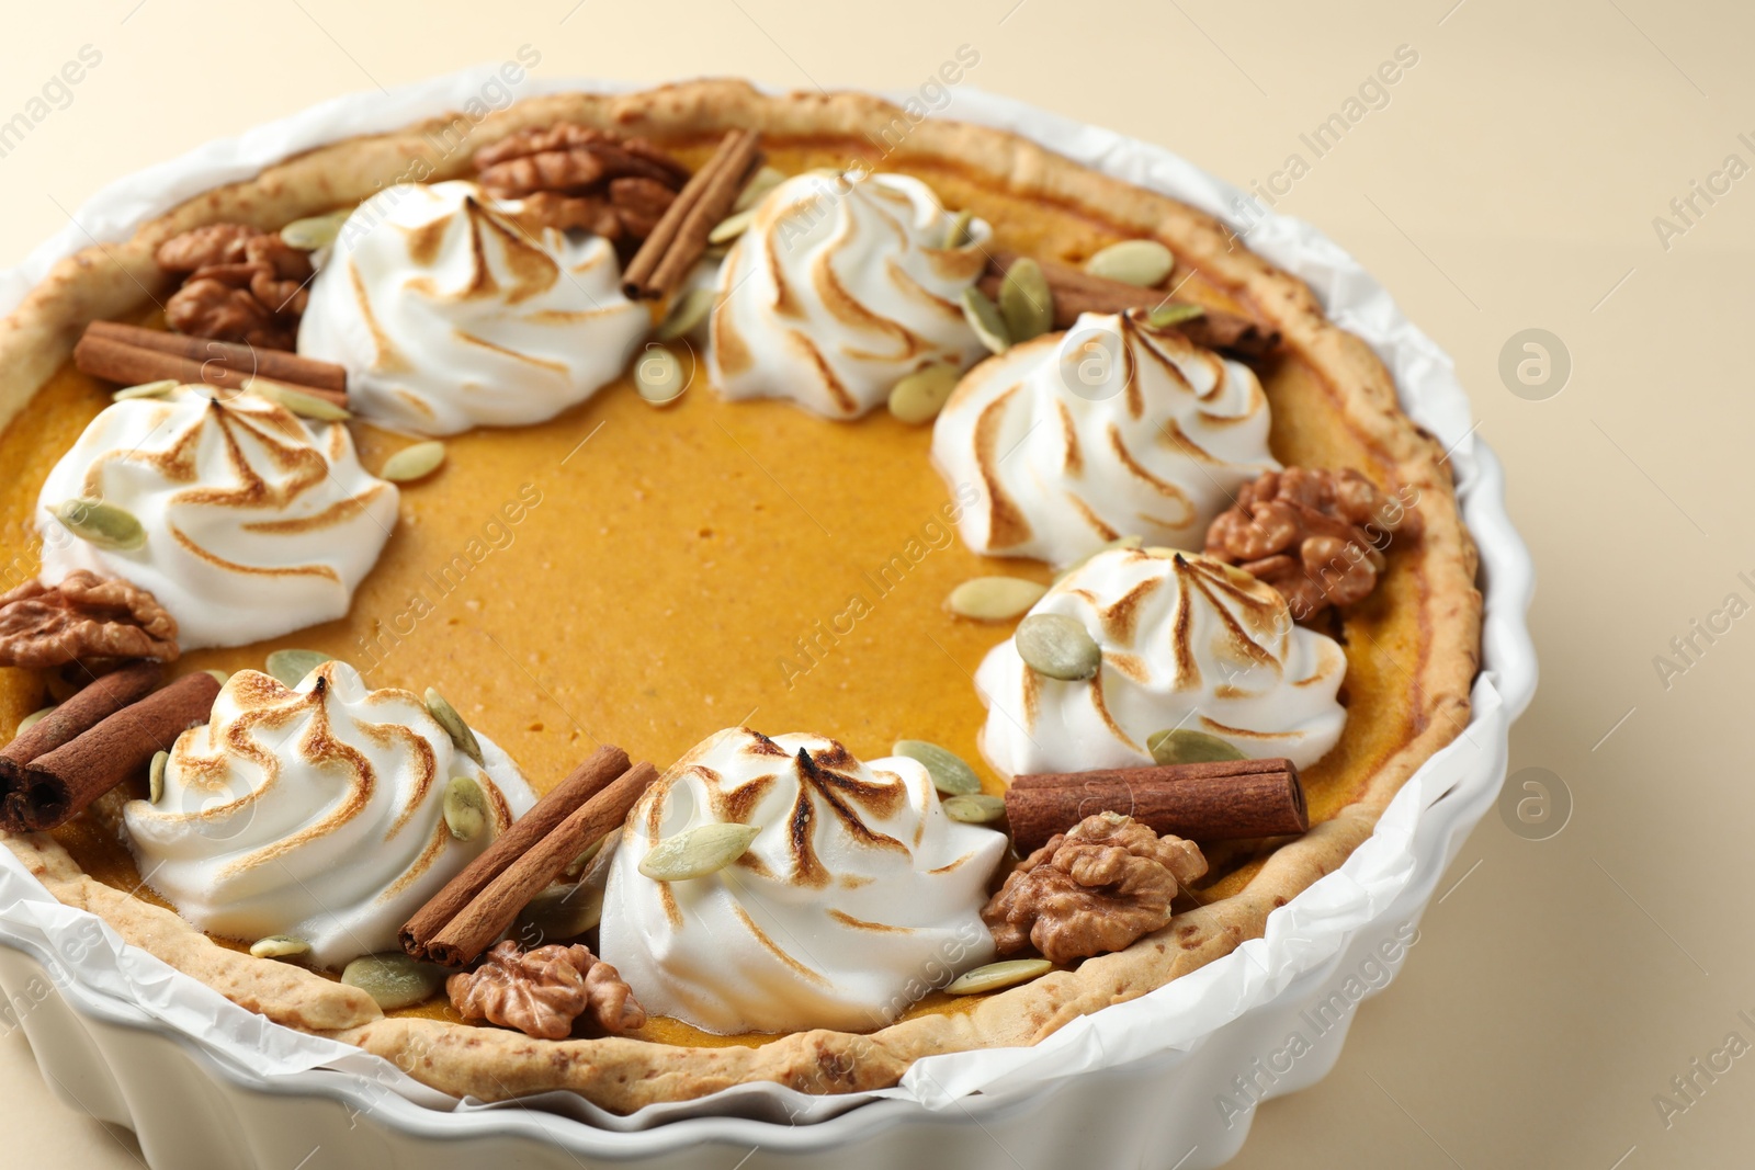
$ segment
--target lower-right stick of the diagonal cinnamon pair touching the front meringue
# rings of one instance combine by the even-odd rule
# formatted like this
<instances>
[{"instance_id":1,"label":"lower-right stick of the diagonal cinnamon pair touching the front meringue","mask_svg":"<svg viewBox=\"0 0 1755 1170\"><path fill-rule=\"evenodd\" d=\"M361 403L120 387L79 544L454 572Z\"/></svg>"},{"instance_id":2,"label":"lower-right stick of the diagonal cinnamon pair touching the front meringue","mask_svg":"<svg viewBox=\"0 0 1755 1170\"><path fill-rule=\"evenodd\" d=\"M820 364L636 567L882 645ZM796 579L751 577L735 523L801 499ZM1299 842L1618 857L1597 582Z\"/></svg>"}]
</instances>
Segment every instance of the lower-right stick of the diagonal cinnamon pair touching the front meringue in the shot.
<instances>
[{"instance_id":1,"label":"lower-right stick of the diagonal cinnamon pair touching the front meringue","mask_svg":"<svg viewBox=\"0 0 1755 1170\"><path fill-rule=\"evenodd\" d=\"M560 877L569 861L627 819L634 802L655 779L658 768L637 763L609 788L574 809L551 833L488 882L486 889L426 944L426 958L444 967L474 961L505 933L518 912L530 905L544 886Z\"/></svg>"}]
</instances>

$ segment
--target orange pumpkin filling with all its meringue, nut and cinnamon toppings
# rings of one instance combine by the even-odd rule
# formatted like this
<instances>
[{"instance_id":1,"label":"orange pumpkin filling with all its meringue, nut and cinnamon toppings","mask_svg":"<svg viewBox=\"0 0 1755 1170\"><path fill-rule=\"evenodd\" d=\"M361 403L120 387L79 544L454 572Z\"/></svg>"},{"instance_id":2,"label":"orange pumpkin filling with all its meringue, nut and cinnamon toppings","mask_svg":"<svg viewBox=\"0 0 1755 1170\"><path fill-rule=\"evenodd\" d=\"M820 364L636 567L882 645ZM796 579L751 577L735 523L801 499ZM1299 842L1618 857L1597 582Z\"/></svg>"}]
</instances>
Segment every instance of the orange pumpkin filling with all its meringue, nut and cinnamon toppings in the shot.
<instances>
[{"instance_id":1,"label":"orange pumpkin filling with all its meringue, nut and cinnamon toppings","mask_svg":"<svg viewBox=\"0 0 1755 1170\"><path fill-rule=\"evenodd\" d=\"M0 435L7 828L391 1016L713 1045L1123 951L1351 803L1418 502L1316 368L1069 205L762 149L558 123L168 242Z\"/></svg>"}]
</instances>

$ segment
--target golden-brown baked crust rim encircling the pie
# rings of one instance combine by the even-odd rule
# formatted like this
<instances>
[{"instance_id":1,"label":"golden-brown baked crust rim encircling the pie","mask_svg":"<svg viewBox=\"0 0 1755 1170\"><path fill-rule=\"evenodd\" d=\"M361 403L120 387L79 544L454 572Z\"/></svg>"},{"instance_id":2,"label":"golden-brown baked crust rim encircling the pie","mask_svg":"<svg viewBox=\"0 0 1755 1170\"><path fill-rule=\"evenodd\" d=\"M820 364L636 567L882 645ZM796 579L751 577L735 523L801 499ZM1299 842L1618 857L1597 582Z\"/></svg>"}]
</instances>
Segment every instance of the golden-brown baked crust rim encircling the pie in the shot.
<instances>
[{"instance_id":1,"label":"golden-brown baked crust rim encircling the pie","mask_svg":"<svg viewBox=\"0 0 1755 1170\"><path fill-rule=\"evenodd\" d=\"M221 219L272 228L363 200L411 168L421 179L462 177L476 147L558 119L660 139L755 126L777 139L846 140L849 154L860 154L869 153L867 135L881 135L906 118L899 107L858 93L763 95L735 81L700 81L632 95L530 98L488 116L469 130L463 149L442 156L428 135L455 135L467 123L432 119L309 151L251 181L205 191L126 242L60 261L0 321L0 424L67 361L88 321L137 312L144 291L163 286L153 254L160 242L188 228ZM130 944L276 1023L384 1056L446 1093L504 1100L572 1089L616 1112L749 1081L807 1093L890 1086L921 1056L1035 1044L1071 1019L1144 995L1260 937L1269 912L1337 868L1371 835L1402 782L1469 721L1481 598L1474 544L1457 510L1444 453L1400 412L1390 374L1369 347L1332 325L1300 281L1239 247L1216 219L983 126L923 121L913 125L895 154L955 160L995 189L1090 209L1107 223L1162 239L1179 261L1278 330L1323 379L1336 424L1365 444L1400 486L1420 493L1423 544L1402 554L1395 570L1415 574L1420 586L1420 612L1408 624L1422 647L1409 686L1411 731L1369 777L1358 779L1353 803L1281 845L1241 893L1179 914L1127 951L986 996L963 1012L923 1014L870 1035L804 1031L760 1047L681 1047L616 1037L532 1040L497 1028L384 1017L363 993L219 947L168 910L102 886L47 837L9 838L7 845L61 902L98 914Z\"/></svg>"}]
</instances>

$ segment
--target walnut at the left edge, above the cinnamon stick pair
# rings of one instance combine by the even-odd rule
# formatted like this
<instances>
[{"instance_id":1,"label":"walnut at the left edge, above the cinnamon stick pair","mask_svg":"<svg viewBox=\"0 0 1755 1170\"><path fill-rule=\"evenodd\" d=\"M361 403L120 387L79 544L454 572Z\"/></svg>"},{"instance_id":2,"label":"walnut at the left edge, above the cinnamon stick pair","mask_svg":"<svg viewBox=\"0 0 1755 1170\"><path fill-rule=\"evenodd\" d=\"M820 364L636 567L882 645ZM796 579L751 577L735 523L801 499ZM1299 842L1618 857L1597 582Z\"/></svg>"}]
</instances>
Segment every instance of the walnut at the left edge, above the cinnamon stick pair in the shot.
<instances>
[{"instance_id":1,"label":"walnut at the left edge, above the cinnamon stick pair","mask_svg":"<svg viewBox=\"0 0 1755 1170\"><path fill-rule=\"evenodd\" d=\"M42 670L91 658L177 658L177 621L119 577L79 568L0 593L0 667Z\"/></svg>"}]
</instances>

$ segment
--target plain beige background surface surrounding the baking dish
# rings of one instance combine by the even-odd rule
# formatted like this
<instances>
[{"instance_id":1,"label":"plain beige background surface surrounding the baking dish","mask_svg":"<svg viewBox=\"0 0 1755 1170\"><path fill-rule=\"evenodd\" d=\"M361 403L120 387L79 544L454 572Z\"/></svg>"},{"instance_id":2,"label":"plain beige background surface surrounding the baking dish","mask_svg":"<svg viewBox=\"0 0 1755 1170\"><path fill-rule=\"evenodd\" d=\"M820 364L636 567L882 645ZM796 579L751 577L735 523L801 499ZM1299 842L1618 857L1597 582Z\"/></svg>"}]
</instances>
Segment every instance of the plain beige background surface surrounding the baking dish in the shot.
<instances>
[{"instance_id":1,"label":"plain beige background surface surrounding the baking dish","mask_svg":"<svg viewBox=\"0 0 1755 1170\"><path fill-rule=\"evenodd\" d=\"M1755 407L1737 356L1755 291L1755 177L1713 205L1695 196L1692 225L1669 212L1727 154L1755 165L1737 139L1755 144L1750 5L14 5L0 121L82 46L102 63L0 158L0 265L118 175L521 44L541 51L544 75L909 88L965 42L981 53L971 84L1167 144L1244 184L1293 151L1309 160L1300 132L1399 46L1418 53L1388 103L1281 210L1353 251L1457 358L1541 572L1544 682L1511 767L1551 770L1572 814L1548 840L1488 814L1334 1074L1264 1107L1234 1165L1744 1165L1755 1058L1699 1079L1706 1091L1669 1126L1653 1096L1732 1030L1755 1044L1736 1017L1755 1016L1743 912L1755 796L1737 756L1750 747L1755 619L1711 644L1697 637L1704 653L1676 660L1687 668L1667 689L1653 656L1729 593L1755 603L1737 579L1755 581ZM1655 216L1685 228L1667 247ZM1571 354L1571 379L1548 400L1501 381L1501 349L1525 328L1550 330ZM137 1165L126 1135L49 1098L16 1033L0 1038L0 1116L9 1165Z\"/></svg>"}]
</instances>

